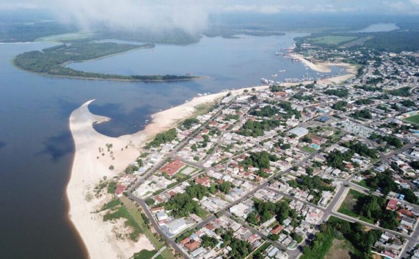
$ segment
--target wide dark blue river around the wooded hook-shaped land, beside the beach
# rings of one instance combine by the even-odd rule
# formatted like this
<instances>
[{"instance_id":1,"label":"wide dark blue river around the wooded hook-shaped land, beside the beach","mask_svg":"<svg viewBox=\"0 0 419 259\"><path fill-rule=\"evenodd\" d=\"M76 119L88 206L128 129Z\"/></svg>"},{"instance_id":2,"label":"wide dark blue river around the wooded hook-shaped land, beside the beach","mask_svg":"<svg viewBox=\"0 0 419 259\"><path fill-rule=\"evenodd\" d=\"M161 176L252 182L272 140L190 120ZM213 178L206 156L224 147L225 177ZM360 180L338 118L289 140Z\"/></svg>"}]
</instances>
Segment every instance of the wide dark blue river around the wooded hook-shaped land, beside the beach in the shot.
<instances>
[{"instance_id":1,"label":"wide dark blue river around the wooded hook-shaped land, beside the beach","mask_svg":"<svg viewBox=\"0 0 419 259\"><path fill-rule=\"evenodd\" d=\"M211 76L176 83L34 75L13 67L11 59L53 44L0 44L0 257L85 256L67 219L65 198L74 152L68 118L74 109L95 98L91 111L112 118L97 127L100 132L113 136L132 133L144 126L150 114L179 105L197 93L256 84L282 69L289 72L278 73L278 79L305 74L301 63L284 67L286 60L274 55L279 48L289 47L294 36L203 39L188 46L159 45L154 54L138 50L74 64L88 71Z\"/></svg>"}]
</instances>

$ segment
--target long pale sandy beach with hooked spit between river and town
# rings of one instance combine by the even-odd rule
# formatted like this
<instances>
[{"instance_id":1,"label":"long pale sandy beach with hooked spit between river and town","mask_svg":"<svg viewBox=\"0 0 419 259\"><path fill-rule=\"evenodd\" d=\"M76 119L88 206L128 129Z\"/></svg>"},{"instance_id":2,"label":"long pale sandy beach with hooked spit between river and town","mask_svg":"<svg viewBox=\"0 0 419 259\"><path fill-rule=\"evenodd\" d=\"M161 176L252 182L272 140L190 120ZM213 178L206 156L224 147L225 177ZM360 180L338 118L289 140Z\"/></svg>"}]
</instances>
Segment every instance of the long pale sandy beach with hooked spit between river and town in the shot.
<instances>
[{"instance_id":1,"label":"long pale sandy beach with hooked spit between river and town","mask_svg":"<svg viewBox=\"0 0 419 259\"><path fill-rule=\"evenodd\" d=\"M349 71L351 72L351 71ZM354 74L320 80L319 83L341 83ZM310 82L303 82L310 83ZM295 83L284 83L284 86ZM233 95L251 91L253 87L231 91ZM257 90L268 86L254 87ZM75 156L71 177L67 185L69 202L69 218L79 232L90 258L129 258L142 249L153 250L150 241L142 236L136 243L130 240L118 239L113 233L114 223L104 222L102 216L92 213L103 204L103 198L89 197L93 188L103 177L110 179L123 171L128 164L139 156L139 149L150 141L155 134L176 126L183 119L194 115L196 108L214 103L227 93L216 93L194 98L180 106L161 111L152 115L152 120L144 130L131 135L109 137L98 133L93 124L109 120L108 117L94 115L85 102L73 111L69 118L69 127L75 143ZM99 148L107 149L106 144L112 144L113 157L108 152L102 156ZM109 166L114 169L110 170Z\"/></svg>"}]
</instances>

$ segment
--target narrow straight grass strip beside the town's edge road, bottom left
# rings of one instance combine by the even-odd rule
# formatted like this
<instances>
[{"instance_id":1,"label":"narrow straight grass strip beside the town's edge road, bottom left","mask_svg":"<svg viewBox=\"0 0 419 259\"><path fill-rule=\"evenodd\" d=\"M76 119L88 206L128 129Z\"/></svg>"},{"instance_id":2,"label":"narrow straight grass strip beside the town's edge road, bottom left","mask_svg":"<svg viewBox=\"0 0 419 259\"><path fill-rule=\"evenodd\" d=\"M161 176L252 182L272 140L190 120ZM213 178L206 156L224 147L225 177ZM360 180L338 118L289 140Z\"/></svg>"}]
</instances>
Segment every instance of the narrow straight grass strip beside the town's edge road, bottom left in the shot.
<instances>
[{"instance_id":1,"label":"narrow straight grass strip beside the town's edge road, bottom left","mask_svg":"<svg viewBox=\"0 0 419 259\"><path fill-rule=\"evenodd\" d=\"M135 203L130 201L129 199L123 197L120 197L120 200L125 204L127 210L132 215L132 217L135 219L135 221L138 223L138 225L141 227L143 233L147 236L147 238L151 241L151 243L154 245L156 249L161 249L164 247L164 244L151 232L151 230L147 227L147 225L144 222L143 217L141 216L141 212L138 211L138 209L135 206ZM167 259L176 259L176 256L169 250L165 249L162 252L162 256ZM139 257L137 257L139 258Z\"/></svg>"}]
</instances>

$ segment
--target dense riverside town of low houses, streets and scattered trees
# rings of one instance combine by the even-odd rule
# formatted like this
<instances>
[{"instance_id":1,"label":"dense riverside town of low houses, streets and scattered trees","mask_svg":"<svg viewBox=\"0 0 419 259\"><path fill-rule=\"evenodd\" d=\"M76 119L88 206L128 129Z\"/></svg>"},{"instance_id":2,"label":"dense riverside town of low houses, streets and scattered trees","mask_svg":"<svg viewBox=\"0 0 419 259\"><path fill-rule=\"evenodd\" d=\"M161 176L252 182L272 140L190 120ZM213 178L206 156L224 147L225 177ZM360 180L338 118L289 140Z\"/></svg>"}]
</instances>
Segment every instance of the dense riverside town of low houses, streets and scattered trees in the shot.
<instances>
[{"instance_id":1,"label":"dense riverside town of low houses, streets and scattered trees","mask_svg":"<svg viewBox=\"0 0 419 259\"><path fill-rule=\"evenodd\" d=\"M295 51L361 65L340 85L226 92L149 142L115 195L185 258L320 258L335 239L419 258L418 55Z\"/></svg>"}]
</instances>

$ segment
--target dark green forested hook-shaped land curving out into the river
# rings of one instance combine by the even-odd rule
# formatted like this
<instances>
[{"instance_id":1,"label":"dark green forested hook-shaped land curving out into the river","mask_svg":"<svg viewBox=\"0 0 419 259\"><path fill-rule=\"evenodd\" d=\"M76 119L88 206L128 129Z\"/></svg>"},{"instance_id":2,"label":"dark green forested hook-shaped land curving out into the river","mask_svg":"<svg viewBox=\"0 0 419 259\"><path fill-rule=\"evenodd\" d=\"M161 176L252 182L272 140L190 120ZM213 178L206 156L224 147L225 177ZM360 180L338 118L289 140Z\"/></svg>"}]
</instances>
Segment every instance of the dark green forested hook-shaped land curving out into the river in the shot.
<instances>
[{"instance_id":1,"label":"dark green forested hook-shaped land curving out into the river","mask_svg":"<svg viewBox=\"0 0 419 259\"><path fill-rule=\"evenodd\" d=\"M102 79L120 81L183 81L194 80L199 77L177 76L177 75L114 75L83 72L65 67L72 62L82 62L108 56L121 54L126 51L139 48L153 48L152 43L141 45L118 44L114 42L83 42L72 44L61 44L45 48L42 51L34 50L19 54L14 59L14 64L22 70L47 75L81 79Z\"/></svg>"}]
</instances>

